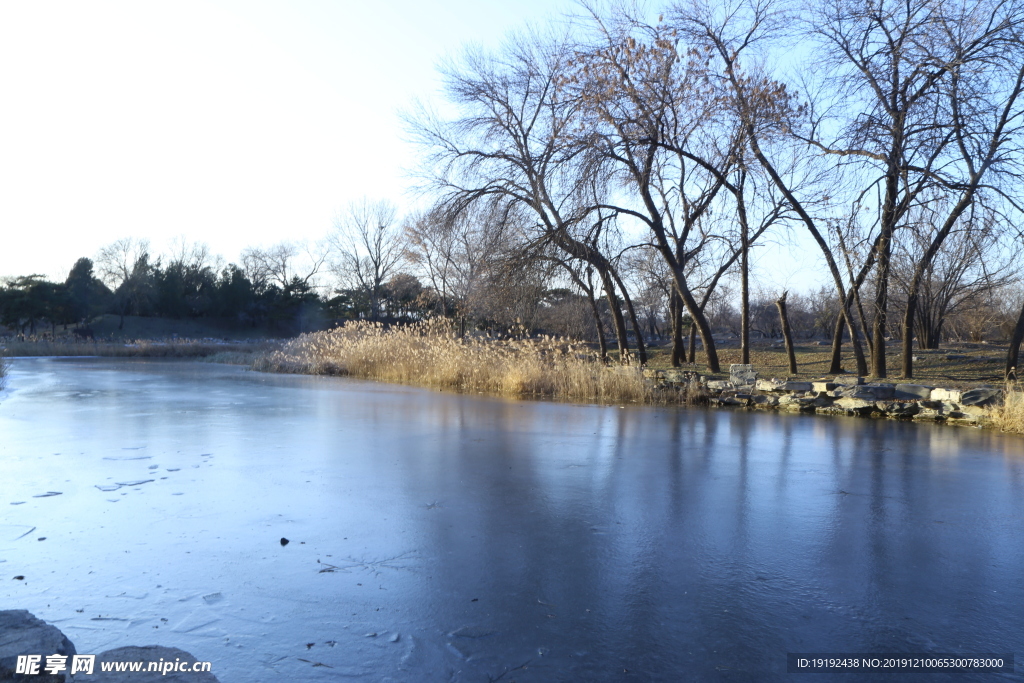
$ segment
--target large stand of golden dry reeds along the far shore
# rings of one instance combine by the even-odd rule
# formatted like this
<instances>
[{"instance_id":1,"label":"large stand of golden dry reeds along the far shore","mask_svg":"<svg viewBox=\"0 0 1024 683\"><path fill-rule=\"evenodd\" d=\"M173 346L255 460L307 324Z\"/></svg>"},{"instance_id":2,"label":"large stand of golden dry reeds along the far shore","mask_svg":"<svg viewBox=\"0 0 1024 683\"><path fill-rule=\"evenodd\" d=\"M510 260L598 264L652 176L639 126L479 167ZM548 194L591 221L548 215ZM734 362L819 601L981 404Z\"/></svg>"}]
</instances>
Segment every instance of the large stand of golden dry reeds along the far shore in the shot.
<instances>
[{"instance_id":1,"label":"large stand of golden dry reeds along the far shore","mask_svg":"<svg viewBox=\"0 0 1024 683\"><path fill-rule=\"evenodd\" d=\"M263 354L253 367L517 397L657 400L639 367L605 366L585 347L551 337L458 339L443 319L388 329L349 323L303 335Z\"/></svg>"}]
</instances>

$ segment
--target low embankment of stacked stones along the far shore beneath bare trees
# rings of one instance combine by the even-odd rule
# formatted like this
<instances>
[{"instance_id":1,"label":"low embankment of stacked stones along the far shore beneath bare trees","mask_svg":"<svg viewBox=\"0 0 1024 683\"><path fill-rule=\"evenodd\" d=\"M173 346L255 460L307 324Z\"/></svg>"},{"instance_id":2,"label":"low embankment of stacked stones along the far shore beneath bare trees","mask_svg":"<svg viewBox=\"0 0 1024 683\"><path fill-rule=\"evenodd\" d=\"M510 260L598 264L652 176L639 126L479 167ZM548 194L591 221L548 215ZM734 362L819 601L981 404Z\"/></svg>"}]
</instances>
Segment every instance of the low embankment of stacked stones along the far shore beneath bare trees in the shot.
<instances>
[{"instance_id":1,"label":"low embankment of stacked stones along the far shore beneath bare trees","mask_svg":"<svg viewBox=\"0 0 1024 683\"><path fill-rule=\"evenodd\" d=\"M663 388L685 388L699 382L712 405L780 410L818 415L852 415L898 420L981 425L1002 390L979 386L970 390L924 384L866 383L863 377L790 381L758 378L752 366L733 365L728 380L710 380L681 370L644 373Z\"/></svg>"}]
</instances>

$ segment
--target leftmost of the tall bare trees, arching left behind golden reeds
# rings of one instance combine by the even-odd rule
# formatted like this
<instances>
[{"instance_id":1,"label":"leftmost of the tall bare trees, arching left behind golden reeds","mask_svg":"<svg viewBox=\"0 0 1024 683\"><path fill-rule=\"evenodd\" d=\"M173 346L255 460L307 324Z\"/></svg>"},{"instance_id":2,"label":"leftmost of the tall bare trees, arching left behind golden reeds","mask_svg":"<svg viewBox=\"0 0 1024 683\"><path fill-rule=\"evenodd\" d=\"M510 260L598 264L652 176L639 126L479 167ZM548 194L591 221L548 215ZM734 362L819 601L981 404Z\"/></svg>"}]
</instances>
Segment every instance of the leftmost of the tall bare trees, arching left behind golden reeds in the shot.
<instances>
[{"instance_id":1,"label":"leftmost of the tall bare trees, arching left behind golden reeds","mask_svg":"<svg viewBox=\"0 0 1024 683\"><path fill-rule=\"evenodd\" d=\"M614 266L599 247L608 218L595 209L602 183L580 172L579 105L558 89L569 60L564 40L538 36L496 54L469 50L444 70L460 115L445 121L420 112L410 123L429 151L427 174L449 216L487 207L528 233L524 246L535 253L550 246L593 267L628 362Z\"/></svg>"}]
</instances>

